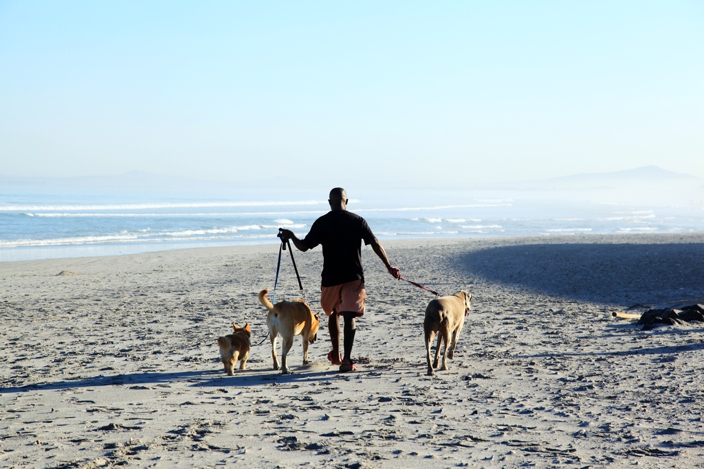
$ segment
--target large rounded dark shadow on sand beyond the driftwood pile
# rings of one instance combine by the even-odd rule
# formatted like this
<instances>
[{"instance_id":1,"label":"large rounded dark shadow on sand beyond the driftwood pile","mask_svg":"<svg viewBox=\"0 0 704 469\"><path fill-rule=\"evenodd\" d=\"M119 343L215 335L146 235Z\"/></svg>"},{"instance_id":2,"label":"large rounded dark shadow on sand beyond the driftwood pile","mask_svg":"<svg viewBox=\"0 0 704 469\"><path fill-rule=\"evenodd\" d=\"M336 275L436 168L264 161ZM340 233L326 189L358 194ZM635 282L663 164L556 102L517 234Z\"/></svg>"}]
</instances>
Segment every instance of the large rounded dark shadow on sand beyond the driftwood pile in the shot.
<instances>
[{"instance_id":1,"label":"large rounded dark shadow on sand beyond the driftwood pile","mask_svg":"<svg viewBox=\"0 0 704 469\"><path fill-rule=\"evenodd\" d=\"M704 243L508 245L460 261L490 281L575 300L630 306L704 297Z\"/></svg>"}]
</instances>

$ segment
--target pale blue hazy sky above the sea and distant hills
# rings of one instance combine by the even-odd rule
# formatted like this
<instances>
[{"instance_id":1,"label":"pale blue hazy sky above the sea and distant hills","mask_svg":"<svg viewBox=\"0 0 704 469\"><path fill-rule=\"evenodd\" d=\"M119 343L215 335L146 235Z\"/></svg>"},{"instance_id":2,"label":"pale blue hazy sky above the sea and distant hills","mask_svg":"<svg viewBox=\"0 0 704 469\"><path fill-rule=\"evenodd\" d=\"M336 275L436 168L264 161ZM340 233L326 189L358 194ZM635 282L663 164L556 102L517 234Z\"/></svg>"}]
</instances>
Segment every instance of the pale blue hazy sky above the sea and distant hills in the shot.
<instances>
[{"instance_id":1,"label":"pale blue hazy sky above the sea and distant hills","mask_svg":"<svg viewBox=\"0 0 704 469\"><path fill-rule=\"evenodd\" d=\"M0 0L0 174L643 165L704 178L703 1Z\"/></svg>"}]
</instances>

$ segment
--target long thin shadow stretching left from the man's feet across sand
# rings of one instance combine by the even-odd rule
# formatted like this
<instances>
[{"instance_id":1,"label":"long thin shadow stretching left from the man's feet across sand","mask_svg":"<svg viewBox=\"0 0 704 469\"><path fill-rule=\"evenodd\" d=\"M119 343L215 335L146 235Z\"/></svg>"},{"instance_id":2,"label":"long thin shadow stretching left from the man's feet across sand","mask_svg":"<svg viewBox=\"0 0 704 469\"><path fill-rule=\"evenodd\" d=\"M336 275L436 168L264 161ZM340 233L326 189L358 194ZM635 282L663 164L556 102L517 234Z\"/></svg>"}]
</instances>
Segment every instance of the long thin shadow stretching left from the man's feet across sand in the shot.
<instances>
[{"instance_id":1,"label":"long thin shadow stretching left from the man's feet across sand","mask_svg":"<svg viewBox=\"0 0 704 469\"><path fill-rule=\"evenodd\" d=\"M316 367L318 368L318 367ZM228 376L222 370L178 371L173 373L145 372L125 373L119 375L98 375L76 380L50 381L13 387L0 388L0 394L11 394L27 391L69 390L84 387L124 386L132 390L149 390L152 385L169 385L174 383L189 383L189 387L255 387L263 385L306 383L316 380L327 380L338 375L337 370L311 370L310 366L294 368L294 373L284 375L280 371L249 368L236 371Z\"/></svg>"}]
</instances>

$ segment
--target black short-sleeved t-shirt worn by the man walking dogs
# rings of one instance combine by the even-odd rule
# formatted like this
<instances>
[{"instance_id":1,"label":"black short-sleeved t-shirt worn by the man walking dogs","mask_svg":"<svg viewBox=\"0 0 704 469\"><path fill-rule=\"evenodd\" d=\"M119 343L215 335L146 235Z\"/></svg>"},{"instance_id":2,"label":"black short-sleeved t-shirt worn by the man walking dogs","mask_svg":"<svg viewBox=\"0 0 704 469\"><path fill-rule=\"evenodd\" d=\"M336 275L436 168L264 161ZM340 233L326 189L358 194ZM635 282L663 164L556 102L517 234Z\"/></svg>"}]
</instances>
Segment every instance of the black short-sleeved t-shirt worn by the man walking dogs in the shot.
<instances>
[{"instance_id":1,"label":"black short-sleeved t-shirt worn by the man walking dogs","mask_svg":"<svg viewBox=\"0 0 704 469\"><path fill-rule=\"evenodd\" d=\"M366 245L375 236L367 221L347 210L331 210L313 222L302 242L308 249L322 245L322 283L332 287L355 280L364 281L362 241Z\"/></svg>"}]
</instances>

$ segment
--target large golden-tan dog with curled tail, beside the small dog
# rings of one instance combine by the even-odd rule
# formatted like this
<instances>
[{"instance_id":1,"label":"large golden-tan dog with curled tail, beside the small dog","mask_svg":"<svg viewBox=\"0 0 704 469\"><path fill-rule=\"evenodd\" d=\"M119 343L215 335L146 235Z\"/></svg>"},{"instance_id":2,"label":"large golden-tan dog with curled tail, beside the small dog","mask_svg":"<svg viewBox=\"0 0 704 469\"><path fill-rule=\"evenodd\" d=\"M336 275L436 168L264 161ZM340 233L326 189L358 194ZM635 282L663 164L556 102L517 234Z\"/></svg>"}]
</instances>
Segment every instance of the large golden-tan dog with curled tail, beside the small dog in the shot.
<instances>
[{"instance_id":1,"label":"large golden-tan dog with curled tail, beside the small dog","mask_svg":"<svg viewBox=\"0 0 704 469\"><path fill-rule=\"evenodd\" d=\"M274 369L279 369L279 360L276 356L276 338L281 334L281 373L290 373L286 366L286 357L291 346L294 345L294 336L300 335L303 340L303 364L308 364L308 343L313 343L318 338L318 314L310 311L308 304L303 300L282 301L271 304L266 297L269 290L259 292L259 302L269 310L266 325L269 327L271 339L271 357L274 360Z\"/></svg>"}]
</instances>

